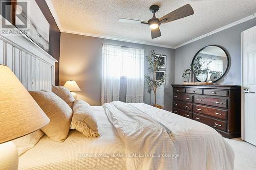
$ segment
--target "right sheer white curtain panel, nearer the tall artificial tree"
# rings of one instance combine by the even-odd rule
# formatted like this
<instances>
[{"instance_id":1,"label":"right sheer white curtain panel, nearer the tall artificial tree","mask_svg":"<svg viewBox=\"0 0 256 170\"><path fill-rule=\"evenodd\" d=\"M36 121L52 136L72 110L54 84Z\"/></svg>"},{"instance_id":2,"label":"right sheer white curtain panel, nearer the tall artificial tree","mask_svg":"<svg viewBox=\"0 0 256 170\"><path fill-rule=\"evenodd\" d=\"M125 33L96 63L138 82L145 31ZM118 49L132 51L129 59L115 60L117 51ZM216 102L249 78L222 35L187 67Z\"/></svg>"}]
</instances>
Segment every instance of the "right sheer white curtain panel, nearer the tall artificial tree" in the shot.
<instances>
[{"instance_id":1,"label":"right sheer white curtain panel, nearer the tall artificial tree","mask_svg":"<svg viewBox=\"0 0 256 170\"><path fill-rule=\"evenodd\" d=\"M129 48L124 59L127 71L126 103L141 103L144 96L144 50Z\"/></svg>"}]
</instances>

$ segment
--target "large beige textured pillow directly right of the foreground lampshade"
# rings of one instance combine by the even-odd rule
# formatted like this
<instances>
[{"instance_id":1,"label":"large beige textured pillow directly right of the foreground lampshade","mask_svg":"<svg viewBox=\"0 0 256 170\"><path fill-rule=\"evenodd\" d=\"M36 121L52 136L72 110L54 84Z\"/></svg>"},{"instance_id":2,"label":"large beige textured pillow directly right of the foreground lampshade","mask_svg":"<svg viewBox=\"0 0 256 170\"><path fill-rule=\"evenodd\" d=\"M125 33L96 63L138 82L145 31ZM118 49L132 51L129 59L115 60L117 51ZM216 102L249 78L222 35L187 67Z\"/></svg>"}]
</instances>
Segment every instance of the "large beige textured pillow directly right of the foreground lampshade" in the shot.
<instances>
[{"instance_id":1,"label":"large beige textured pillow directly right of the foreground lampshade","mask_svg":"<svg viewBox=\"0 0 256 170\"><path fill-rule=\"evenodd\" d=\"M69 105L50 91L29 91L29 93L50 118L50 123L41 130L50 139L63 142L68 136L72 118Z\"/></svg>"}]
</instances>

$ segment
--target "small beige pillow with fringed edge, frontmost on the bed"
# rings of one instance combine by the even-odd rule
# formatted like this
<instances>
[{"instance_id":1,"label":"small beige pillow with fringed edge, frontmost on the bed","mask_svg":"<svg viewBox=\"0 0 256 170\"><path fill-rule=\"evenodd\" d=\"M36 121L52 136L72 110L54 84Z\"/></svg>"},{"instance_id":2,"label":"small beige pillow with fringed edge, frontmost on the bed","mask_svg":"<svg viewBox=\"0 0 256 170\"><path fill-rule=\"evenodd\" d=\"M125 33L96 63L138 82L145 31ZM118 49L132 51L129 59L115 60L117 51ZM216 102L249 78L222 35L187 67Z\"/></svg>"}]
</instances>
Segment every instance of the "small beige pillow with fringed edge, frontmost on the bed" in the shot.
<instances>
[{"instance_id":1,"label":"small beige pillow with fringed edge, frontmost on the bed","mask_svg":"<svg viewBox=\"0 0 256 170\"><path fill-rule=\"evenodd\" d=\"M91 106L81 100L75 100L74 102L73 117L70 128L76 129L86 137L100 136Z\"/></svg>"}]
</instances>

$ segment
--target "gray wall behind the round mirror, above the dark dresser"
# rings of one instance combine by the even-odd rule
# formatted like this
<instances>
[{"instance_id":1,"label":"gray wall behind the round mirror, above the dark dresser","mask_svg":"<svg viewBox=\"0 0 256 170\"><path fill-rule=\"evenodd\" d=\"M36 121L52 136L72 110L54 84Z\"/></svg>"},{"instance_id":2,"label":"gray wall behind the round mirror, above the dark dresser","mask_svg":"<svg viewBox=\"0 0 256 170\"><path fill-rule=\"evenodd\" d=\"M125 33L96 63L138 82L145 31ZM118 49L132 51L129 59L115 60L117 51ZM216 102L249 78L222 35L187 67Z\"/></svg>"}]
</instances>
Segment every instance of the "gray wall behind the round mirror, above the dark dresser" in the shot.
<instances>
[{"instance_id":1,"label":"gray wall behind the round mirror, above the dark dresser","mask_svg":"<svg viewBox=\"0 0 256 170\"><path fill-rule=\"evenodd\" d=\"M212 34L175 49L175 84L184 81L183 71L189 67L195 54L204 46L220 45L229 54L230 67L224 78L216 84L241 85L241 32L256 25L256 18Z\"/></svg>"}]
</instances>

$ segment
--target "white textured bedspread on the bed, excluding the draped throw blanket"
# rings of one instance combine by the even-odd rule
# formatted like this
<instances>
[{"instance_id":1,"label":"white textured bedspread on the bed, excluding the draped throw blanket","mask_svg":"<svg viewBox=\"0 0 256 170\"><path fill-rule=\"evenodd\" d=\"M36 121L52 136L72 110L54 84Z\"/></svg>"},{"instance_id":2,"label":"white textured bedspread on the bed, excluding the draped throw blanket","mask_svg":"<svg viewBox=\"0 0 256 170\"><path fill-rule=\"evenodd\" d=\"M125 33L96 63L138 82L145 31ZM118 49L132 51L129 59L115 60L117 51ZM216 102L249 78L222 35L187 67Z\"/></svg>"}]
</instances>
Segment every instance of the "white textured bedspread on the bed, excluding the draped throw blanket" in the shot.
<instances>
[{"instance_id":1,"label":"white textured bedspread on the bed, excluding the draped throw blanket","mask_svg":"<svg viewBox=\"0 0 256 170\"><path fill-rule=\"evenodd\" d=\"M177 169L233 169L231 146L214 129L146 104L131 104L165 119L175 134ZM86 138L71 130L63 142L46 135L34 148L19 157L19 169L129 169L125 143L106 116L102 106L92 106L98 122L99 138Z\"/></svg>"}]
</instances>

